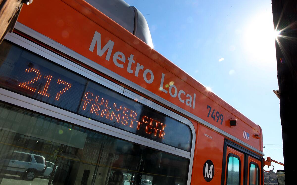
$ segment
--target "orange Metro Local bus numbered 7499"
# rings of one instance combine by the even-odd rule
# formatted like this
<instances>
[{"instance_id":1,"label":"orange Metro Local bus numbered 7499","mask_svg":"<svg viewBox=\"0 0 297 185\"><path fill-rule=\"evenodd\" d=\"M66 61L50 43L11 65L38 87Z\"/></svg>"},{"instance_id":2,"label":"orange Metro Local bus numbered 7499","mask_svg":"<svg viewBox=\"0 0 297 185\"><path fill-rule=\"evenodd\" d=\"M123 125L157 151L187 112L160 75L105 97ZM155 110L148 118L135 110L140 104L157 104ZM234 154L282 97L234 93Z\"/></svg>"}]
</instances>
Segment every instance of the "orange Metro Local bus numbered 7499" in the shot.
<instances>
[{"instance_id":1,"label":"orange Metro Local bus numbered 7499","mask_svg":"<svg viewBox=\"0 0 297 185\"><path fill-rule=\"evenodd\" d=\"M1 43L0 183L263 184L260 126L94 6L34 1Z\"/></svg>"}]
</instances>

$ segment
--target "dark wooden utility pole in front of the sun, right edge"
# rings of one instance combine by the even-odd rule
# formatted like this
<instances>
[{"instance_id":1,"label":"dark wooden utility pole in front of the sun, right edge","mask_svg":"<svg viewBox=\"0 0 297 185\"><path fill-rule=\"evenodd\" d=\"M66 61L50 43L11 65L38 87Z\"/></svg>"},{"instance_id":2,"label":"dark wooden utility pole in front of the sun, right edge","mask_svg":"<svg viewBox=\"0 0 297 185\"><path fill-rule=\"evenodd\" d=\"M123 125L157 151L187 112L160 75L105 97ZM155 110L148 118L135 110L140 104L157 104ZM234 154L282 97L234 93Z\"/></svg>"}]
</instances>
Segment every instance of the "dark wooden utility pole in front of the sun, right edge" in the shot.
<instances>
[{"instance_id":1,"label":"dark wooden utility pole in front of the sun, right edge","mask_svg":"<svg viewBox=\"0 0 297 185\"><path fill-rule=\"evenodd\" d=\"M272 0L286 184L296 184L297 0Z\"/></svg>"}]
</instances>

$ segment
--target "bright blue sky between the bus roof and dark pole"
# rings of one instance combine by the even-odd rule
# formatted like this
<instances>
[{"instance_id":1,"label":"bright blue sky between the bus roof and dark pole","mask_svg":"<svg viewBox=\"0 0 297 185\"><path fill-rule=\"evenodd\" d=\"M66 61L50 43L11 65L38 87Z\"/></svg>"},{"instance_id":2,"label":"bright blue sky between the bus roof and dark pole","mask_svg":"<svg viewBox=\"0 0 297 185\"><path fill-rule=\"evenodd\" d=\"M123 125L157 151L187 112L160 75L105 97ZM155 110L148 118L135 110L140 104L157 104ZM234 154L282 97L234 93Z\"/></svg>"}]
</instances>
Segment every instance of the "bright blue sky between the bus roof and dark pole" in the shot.
<instances>
[{"instance_id":1,"label":"bright blue sky between the bus roof and dark pole","mask_svg":"<svg viewBox=\"0 0 297 185\"><path fill-rule=\"evenodd\" d=\"M265 158L283 163L271 0L125 1L146 18L154 49L260 125Z\"/></svg>"}]
</instances>

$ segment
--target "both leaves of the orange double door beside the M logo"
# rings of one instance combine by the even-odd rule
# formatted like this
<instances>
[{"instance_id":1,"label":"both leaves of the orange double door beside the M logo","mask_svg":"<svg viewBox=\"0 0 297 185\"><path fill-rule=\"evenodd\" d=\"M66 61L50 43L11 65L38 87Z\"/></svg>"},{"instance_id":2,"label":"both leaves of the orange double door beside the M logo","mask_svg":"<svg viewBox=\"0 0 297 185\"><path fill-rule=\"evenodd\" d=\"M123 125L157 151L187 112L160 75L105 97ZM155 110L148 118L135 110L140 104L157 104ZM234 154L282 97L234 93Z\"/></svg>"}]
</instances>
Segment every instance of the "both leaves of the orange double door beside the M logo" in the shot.
<instances>
[{"instance_id":1,"label":"both leaves of the orange double door beside the M logo","mask_svg":"<svg viewBox=\"0 0 297 185\"><path fill-rule=\"evenodd\" d=\"M225 145L222 185L261 185L262 158L241 147ZM225 168L224 168L225 167Z\"/></svg>"}]
</instances>

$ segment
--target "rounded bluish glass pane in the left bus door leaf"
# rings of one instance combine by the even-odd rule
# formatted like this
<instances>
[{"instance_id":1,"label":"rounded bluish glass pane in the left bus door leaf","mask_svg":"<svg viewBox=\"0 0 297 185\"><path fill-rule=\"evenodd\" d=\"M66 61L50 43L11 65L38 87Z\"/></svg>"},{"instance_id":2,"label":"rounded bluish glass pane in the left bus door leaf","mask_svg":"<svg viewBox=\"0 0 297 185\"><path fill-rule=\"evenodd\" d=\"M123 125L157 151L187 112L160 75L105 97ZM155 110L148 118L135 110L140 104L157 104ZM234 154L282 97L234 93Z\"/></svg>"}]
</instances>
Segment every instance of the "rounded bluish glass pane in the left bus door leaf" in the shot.
<instances>
[{"instance_id":1,"label":"rounded bluish glass pane in the left bus door leaf","mask_svg":"<svg viewBox=\"0 0 297 185\"><path fill-rule=\"evenodd\" d=\"M236 185L240 181L240 161L234 156L228 157L227 185Z\"/></svg>"}]
</instances>

